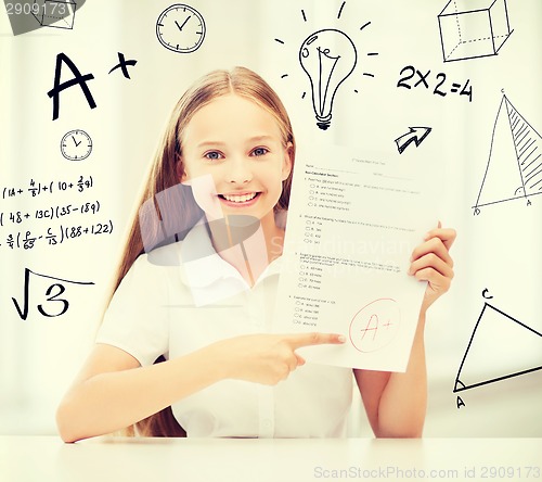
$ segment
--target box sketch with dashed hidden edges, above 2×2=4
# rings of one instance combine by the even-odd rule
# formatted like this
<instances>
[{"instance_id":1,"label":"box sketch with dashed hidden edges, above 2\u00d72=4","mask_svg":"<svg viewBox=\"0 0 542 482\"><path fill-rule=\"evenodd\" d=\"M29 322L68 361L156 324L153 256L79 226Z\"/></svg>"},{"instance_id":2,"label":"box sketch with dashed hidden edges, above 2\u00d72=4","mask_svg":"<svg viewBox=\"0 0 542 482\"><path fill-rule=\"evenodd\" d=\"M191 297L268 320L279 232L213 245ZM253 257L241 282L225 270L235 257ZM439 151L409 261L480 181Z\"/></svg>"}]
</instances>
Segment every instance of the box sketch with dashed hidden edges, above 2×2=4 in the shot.
<instances>
[{"instance_id":1,"label":"box sketch with dashed hidden edges, above 2\u00d72=4","mask_svg":"<svg viewBox=\"0 0 542 482\"><path fill-rule=\"evenodd\" d=\"M506 0L450 0L438 20L444 62L496 55L513 31Z\"/></svg>"}]
</instances>

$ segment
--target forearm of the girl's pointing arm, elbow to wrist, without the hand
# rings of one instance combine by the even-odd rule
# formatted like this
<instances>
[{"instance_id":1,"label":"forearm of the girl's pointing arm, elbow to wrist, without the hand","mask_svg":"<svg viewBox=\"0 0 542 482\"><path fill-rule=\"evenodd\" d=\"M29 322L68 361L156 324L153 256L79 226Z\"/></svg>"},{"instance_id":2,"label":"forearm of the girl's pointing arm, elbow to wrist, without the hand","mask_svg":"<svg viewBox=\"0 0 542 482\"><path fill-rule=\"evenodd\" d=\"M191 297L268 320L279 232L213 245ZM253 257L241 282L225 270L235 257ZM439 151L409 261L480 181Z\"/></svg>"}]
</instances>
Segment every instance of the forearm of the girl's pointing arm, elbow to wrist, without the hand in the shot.
<instances>
[{"instance_id":1,"label":"forearm of the girl's pointing arm, elbow to wrist, without the hand","mask_svg":"<svg viewBox=\"0 0 542 482\"><path fill-rule=\"evenodd\" d=\"M99 373L66 394L56 413L59 431L65 442L112 433L220 379L205 348L149 367Z\"/></svg>"}]
</instances>

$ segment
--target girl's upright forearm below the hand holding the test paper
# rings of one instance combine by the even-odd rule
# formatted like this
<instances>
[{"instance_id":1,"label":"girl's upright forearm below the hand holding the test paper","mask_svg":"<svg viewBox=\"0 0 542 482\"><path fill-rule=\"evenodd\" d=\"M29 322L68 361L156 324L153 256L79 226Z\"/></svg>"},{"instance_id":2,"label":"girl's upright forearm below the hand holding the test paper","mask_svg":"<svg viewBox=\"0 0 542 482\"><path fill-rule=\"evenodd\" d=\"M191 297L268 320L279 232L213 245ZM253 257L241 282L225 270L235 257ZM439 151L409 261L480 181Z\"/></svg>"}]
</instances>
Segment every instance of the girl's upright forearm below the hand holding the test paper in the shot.
<instances>
[{"instance_id":1,"label":"girl's upright forearm below the hand holding the test paper","mask_svg":"<svg viewBox=\"0 0 542 482\"><path fill-rule=\"evenodd\" d=\"M422 312L406 371L390 373L383 391L376 436L422 436L427 407L424 328L425 313Z\"/></svg>"}]
</instances>

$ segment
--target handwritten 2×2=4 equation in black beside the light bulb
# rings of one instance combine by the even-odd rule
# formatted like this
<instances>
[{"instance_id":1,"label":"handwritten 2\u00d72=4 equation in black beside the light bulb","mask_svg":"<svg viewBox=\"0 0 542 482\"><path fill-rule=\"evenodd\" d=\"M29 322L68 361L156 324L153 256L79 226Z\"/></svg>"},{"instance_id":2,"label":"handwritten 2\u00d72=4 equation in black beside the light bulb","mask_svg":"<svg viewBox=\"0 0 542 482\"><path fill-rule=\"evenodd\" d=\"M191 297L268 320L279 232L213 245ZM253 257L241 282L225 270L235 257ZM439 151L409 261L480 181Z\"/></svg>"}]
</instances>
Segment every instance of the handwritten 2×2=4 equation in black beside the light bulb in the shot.
<instances>
[{"instance_id":1,"label":"handwritten 2\u00d72=4 equation in black beside the light bulb","mask_svg":"<svg viewBox=\"0 0 542 482\"><path fill-rule=\"evenodd\" d=\"M452 83L451 85L447 79L448 77L443 72L431 75L431 71L423 73L413 65L406 65L399 72L397 87L409 90L416 87L422 89L425 87L427 91L433 91L435 96L447 97L449 93L460 97L465 96L468 102L473 102L473 85L470 84L470 79L461 83Z\"/></svg>"}]
</instances>

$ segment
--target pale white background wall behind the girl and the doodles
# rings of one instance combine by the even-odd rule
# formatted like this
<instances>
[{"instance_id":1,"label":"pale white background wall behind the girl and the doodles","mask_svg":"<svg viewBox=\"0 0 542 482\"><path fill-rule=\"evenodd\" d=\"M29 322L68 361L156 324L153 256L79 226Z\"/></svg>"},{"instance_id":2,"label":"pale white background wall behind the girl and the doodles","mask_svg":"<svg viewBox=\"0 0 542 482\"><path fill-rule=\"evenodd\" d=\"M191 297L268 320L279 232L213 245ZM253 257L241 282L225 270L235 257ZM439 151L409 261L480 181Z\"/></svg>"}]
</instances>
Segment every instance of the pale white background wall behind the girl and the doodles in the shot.
<instances>
[{"instance_id":1,"label":"pale white background wall behind the girl and the doodles","mask_svg":"<svg viewBox=\"0 0 542 482\"><path fill-rule=\"evenodd\" d=\"M30 179L49 183L80 175L92 176L94 186L83 193L0 199L4 213L0 227L0 433L55 433L55 407L92 344L128 216L173 102L202 74L245 65L260 73L285 102L300 140L299 155L304 142L311 139L393 151L393 139L409 126L433 127L418 149L411 145L403 155L408 162L409 156L438 153L433 161L441 195L435 202L441 207L441 220L456 228L459 238L452 252L456 263L453 288L431 308L426 330L429 408L425 433L542 435L542 371L465 391L461 409L452 393L483 307L483 289L494 296L493 306L542 332L542 195L532 196L530 206L517 200L488 206L479 216L473 216L472 210L487 167L502 89L530 125L542 131L542 3L508 0L514 31L499 55L449 63L442 61L437 21L446 1L347 0L337 18L341 3L192 0L190 4L206 20L207 35L198 51L185 55L164 49L156 39L156 18L169 5L162 0L88 1L76 13L74 29L41 28L17 37L11 35L2 10L0 190L26 189ZM359 53L357 69L337 94L333 127L325 132L314 126L309 96L301 99L309 87L297 60L302 40L321 28L347 33ZM82 74L94 75L89 87L98 107L90 110L78 88L68 89L61 94L60 118L52 122L47 92L53 86L60 52ZM131 79L118 69L108 75L118 63L117 52L138 61L128 67ZM370 56L370 52L378 55ZM431 89L398 88L399 73L406 65L423 73L430 69ZM431 93L438 73L447 75L443 88L448 90L452 81L469 79L473 101ZM282 78L284 74L287 77ZM66 68L64 76L70 77ZM92 155L81 163L67 162L59 150L62 136L74 128L91 134L94 143ZM41 232L64 223L34 219L14 225L9 213L95 201L101 204L100 213L92 218L81 215L74 223L112 219L112 236L87 236L56 246L41 241L31 250L7 246L9 233ZM20 304L23 301L25 268L94 286L70 286L68 312L46 318L36 305L44 302L42 293L50 283L31 278L30 310L22 320L12 297ZM492 337L486 341L488 357L479 364L481 378L496 366L504 372L508 369L499 358L499 346L514 346L515 340L503 339L499 330ZM517 351L521 363L542 366L540 340L538 348ZM366 423L362 434L369 435Z\"/></svg>"}]
</instances>

